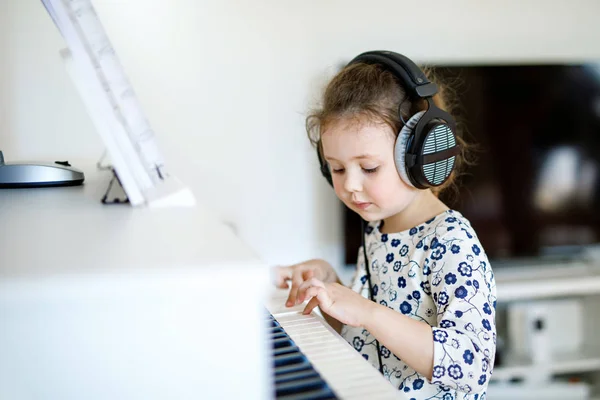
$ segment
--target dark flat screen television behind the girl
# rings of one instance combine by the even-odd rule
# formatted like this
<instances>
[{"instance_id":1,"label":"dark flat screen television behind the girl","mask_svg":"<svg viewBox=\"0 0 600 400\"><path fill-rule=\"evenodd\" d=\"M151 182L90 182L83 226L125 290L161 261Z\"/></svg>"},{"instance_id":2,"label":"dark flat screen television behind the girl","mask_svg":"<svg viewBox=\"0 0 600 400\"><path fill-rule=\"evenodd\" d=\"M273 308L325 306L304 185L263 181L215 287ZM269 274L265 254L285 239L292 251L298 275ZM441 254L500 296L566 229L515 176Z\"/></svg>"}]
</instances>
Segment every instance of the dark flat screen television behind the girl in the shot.
<instances>
[{"instance_id":1,"label":"dark flat screen television behind the girl","mask_svg":"<svg viewBox=\"0 0 600 400\"><path fill-rule=\"evenodd\" d=\"M600 64L435 66L475 145L457 193L490 259L569 256L600 242ZM346 263L360 219L345 211Z\"/></svg>"}]
</instances>

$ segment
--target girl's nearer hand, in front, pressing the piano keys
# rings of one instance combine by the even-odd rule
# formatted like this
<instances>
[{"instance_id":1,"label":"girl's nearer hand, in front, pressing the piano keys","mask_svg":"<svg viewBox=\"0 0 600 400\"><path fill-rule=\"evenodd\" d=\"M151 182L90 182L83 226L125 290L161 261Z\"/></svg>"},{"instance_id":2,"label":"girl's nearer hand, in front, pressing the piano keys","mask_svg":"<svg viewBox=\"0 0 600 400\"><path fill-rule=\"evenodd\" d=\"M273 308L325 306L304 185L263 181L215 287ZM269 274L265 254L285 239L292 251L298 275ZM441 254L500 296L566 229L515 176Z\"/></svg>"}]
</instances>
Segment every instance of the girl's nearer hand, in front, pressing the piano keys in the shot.
<instances>
[{"instance_id":1,"label":"girl's nearer hand, in front, pressing the piano keys","mask_svg":"<svg viewBox=\"0 0 600 400\"><path fill-rule=\"evenodd\" d=\"M312 297L312 298L311 298ZM376 304L338 283L324 283L316 278L302 283L296 303L311 298L303 314L309 314L316 306L343 324L364 326Z\"/></svg>"}]
</instances>

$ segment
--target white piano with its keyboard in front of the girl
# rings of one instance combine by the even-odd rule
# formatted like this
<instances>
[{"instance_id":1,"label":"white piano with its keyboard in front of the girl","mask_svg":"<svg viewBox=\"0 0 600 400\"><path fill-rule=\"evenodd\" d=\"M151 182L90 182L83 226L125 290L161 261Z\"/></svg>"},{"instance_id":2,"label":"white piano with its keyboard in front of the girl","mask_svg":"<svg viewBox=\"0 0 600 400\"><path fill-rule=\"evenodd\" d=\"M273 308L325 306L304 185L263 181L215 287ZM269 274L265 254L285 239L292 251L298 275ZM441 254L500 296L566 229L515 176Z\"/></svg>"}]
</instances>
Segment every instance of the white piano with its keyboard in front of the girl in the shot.
<instances>
[{"instance_id":1,"label":"white piano with its keyboard in front of the girl","mask_svg":"<svg viewBox=\"0 0 600 400\"><path fill-rule=\"evenodd\" d=\"M0 190L0 399L398 395L209 211L103 206L108 180Z\"/></svg>"}]
</instances>

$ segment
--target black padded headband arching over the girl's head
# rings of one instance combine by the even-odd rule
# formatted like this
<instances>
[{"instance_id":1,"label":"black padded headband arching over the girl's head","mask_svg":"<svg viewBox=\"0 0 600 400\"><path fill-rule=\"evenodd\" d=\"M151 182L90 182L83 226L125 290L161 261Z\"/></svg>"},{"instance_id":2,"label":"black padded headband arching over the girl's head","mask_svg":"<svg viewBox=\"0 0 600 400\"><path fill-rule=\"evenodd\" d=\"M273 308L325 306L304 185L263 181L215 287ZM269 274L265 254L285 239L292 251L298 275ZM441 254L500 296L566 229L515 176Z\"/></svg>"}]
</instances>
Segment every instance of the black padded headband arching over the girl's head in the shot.
<instances>
[{"instance_id":1,"label":"black padded headband arching over the girl's head","mask_svg":"<svg viewBox=\"0 0 600 400\"><path fill-rule=\"evenodd\" d=\"M425 98L437 93L437 85L427 79L421 69L408 57L391 51L367 51L354 57L348 63L377 64L389 70L396 78L402 80L412 97Z\"/></svg>"}]
</instances>

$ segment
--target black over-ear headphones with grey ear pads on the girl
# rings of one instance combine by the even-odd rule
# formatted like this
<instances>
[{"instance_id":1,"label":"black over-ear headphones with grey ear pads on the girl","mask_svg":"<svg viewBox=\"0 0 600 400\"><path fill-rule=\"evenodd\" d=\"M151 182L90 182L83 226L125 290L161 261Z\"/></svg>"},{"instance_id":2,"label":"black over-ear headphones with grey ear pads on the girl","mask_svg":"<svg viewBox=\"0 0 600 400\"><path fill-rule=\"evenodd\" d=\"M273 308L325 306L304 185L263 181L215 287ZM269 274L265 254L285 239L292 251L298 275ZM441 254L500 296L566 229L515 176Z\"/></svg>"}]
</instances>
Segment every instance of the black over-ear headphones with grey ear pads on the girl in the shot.
<instances>
[{"instance_id":1,"label":"black over-ear headphones with grey ear pads on the girl","mask_svg":"<svg viewBox=\"0 0 600 400\"><path fill-rule=\"evenodd\" d=\"M368 51L355 57L348 65L377 64L390 71L404 87L411 100L425 99L426 111L411 116L399 132L394 145L398 174L409 186L427 189L443 184L452 173L460 147L456 143L456 122L432 99L438 88L423 71L407 57L391 51ZM404 121L398 108L400 120ZM320 146L320 145L319 145ZM318 147L319 147L318 146ZM327 162L317 148L321 173L333 185Z\"/></svg>"}]
</instances>

